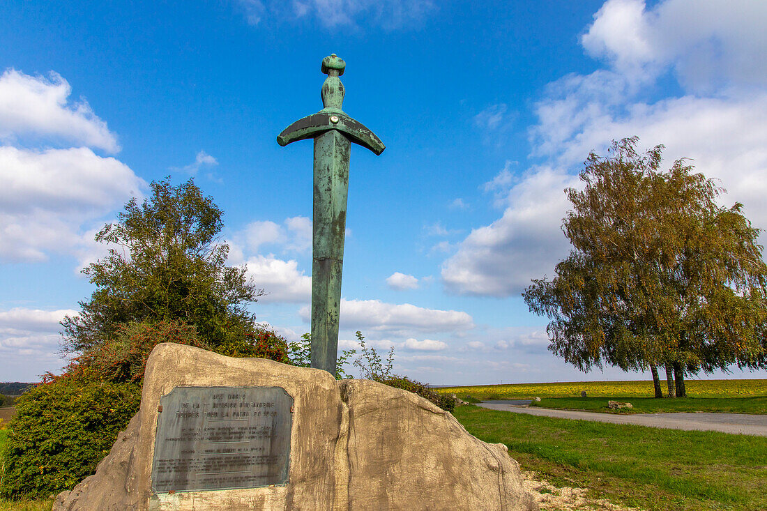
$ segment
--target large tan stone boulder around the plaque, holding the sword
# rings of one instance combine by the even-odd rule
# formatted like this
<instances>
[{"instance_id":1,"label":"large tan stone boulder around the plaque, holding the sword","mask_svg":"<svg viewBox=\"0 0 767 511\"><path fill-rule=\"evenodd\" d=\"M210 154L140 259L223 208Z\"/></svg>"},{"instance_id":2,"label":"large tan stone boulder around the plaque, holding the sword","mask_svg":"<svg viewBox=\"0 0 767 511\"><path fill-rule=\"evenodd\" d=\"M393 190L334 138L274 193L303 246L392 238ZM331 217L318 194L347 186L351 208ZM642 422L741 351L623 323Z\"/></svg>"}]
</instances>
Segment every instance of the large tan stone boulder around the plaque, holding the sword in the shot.
<instances>
[{"instance_id":1,"label":"large tan stone boulder around the plaque, holding the sword","mask_svg":"<svg viewBox=\"0 0 767 511\"><path fill-rule=\"evenodd\" d=\"M155 493L160 397L175 387L282 387L293 398L288 483ZM160 408L161 410L161 408ZM538 505L502 444L472 437L422 397L374 381L199 348L158 345L139 412L109 455L54 511L508 509Z\"/></svg>"}]
</instances>

